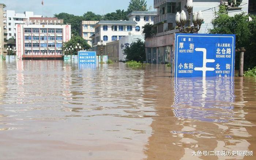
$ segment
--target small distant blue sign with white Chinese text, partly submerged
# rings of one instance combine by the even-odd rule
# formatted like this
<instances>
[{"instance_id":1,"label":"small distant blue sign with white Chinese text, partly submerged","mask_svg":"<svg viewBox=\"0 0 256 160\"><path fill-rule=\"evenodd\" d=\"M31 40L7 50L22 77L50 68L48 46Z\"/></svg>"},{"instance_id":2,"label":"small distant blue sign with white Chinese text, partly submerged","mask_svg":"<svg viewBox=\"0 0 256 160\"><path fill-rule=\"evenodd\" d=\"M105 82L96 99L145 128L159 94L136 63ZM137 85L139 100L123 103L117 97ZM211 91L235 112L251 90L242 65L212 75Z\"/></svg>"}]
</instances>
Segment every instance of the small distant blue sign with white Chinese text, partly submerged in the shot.
<instances>
[{"instance_id":1,"label":"small distant blue sign with white Chinese text, partly submerged","mask_svg":"<svg viewBox=\"0 0 256 160\"><path fill-rule=\"evenodd\" d=\"M94 51L79 51L78 64L96 64L96 52Z\"/></svg>"}]
</instances>

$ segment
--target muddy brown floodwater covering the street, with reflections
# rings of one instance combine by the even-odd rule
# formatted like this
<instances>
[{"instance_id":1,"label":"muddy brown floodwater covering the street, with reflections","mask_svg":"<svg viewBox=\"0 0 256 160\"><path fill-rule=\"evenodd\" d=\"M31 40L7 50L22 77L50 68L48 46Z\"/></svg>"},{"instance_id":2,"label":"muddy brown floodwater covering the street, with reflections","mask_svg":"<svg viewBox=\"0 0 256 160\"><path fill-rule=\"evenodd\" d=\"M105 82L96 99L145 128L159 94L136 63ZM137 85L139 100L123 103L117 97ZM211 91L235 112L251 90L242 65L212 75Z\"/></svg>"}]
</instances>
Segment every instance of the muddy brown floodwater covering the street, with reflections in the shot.
<instances>
[{"instance_id":1,"label":"muddy brown floodwater covering the street, with reflections","mask_svg":"<svg viewBox=\"0 0 256 160\"><path fill-rule=\"evenodd\" d=\"M256 154L255 78L170 75L122 62L0 63L0 159L255 159L218 155Z\"/></svg>"}]
</instances>

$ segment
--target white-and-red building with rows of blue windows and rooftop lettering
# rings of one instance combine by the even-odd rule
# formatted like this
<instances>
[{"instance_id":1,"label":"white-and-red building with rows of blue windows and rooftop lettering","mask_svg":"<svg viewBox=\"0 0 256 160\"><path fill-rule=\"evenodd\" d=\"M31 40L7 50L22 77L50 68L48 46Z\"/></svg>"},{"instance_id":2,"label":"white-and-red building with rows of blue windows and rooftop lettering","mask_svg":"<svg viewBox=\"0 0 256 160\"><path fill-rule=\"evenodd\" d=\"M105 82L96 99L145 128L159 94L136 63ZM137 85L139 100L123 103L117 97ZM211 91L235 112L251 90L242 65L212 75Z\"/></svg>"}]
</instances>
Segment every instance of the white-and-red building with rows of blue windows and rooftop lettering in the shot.
<instances>
[{"instance_id":1,"label":"white-and-red building with rows of blue windows and rooftop lettering","mask_svg":"<svg viewBox=\"0 0 256 160\"><path fill-rule=\"evenodd\" d=\"M56 24L61 21L55 18L50 19L37 18L34 21L35 24L16 24L16 55L18 58L62 57L63 42L71 39L71 26ZM45 24L42 24L43 22Z\"/></svg>"}]
</instances>

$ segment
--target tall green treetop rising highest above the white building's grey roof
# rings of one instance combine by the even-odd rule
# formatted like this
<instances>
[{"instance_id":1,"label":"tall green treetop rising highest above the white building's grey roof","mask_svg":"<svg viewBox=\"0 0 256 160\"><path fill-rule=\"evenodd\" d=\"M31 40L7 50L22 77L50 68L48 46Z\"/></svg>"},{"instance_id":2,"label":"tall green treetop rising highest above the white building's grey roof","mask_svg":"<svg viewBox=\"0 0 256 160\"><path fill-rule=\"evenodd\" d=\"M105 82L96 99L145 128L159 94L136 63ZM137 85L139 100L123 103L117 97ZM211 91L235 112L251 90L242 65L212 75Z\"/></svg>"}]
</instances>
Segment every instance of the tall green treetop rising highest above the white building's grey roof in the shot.
<instances>
[{"instance_id":1,"label":"tall green treetop rising highest above the white building's grey roof","mask_svg":"<svg viewBox=\"0 0 256 160\"><path fill-rule=\"evenodd\" d=\"M128 14L133 11L147 11L146 0L131 0L127 9Z\"/></svg>"}]
</instances>

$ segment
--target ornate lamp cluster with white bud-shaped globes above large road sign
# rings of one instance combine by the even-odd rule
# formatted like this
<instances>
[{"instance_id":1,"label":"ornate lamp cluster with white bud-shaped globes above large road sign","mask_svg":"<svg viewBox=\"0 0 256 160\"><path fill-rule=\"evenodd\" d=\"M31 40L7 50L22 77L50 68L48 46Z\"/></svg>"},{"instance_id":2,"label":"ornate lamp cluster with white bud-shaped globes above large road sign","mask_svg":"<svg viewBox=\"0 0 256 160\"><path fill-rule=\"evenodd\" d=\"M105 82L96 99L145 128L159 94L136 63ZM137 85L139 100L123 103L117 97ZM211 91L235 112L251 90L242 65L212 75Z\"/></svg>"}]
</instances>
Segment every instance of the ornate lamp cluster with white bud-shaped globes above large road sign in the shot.
<instances>
[{"instance_id":1,"label":"ornate lamp cluster with white bud-shaped globes above large road sign","mask_svg":"<svg viewBox=\"0 0 256 160\"><path fill-rule=\"evenodd\" d=\"M201 25L204 21L202 12L199 11L198 13L193 13L193 19L191 24L191 14L193 11L193 0L188 0L186 5L187 11L188 11L188 20L186 13L182 10L181 13L177 12L175 21L178 26L178 29L181 33L196 33L200 30ZM188 22L188 27L185 27L185 24Z\"/></svg>"}]
</instances>

